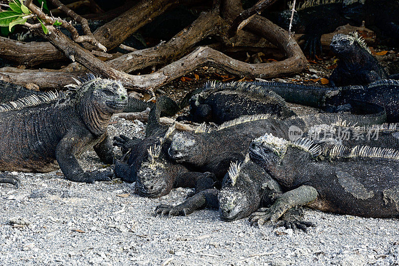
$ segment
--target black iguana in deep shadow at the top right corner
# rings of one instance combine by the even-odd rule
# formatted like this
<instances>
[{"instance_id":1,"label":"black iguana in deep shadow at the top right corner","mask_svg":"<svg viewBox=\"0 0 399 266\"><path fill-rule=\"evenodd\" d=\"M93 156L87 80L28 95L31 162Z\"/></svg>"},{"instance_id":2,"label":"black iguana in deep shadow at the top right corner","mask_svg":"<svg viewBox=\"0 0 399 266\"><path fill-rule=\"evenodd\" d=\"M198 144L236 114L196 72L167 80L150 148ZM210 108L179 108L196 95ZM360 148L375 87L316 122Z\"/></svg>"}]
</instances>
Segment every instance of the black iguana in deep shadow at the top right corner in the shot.
<instances>
[{"instance_id":1,"label":"black iguana in deep shadow at the top right corner","mask_svg":"<svg viewBox=\"0 0 399 266\"><path fill-rule=\"evenodd\" d=\"M291 4L292 5L292 4ZM290 8L291 9L291 8ZM378 32L380 39L392 39L390 44L397 46L399 39L398 0L307 0L295 7L292 30L304 33L303 50L313 58L322 52L321 35L333 32L338 26L351 24L365 26ZM270 19L288 29L291 11L279 15L269 14ZM380 34L382 33L382 34ZM381 35L384 35L381 38Z\"/></svg>"}]
</instances>

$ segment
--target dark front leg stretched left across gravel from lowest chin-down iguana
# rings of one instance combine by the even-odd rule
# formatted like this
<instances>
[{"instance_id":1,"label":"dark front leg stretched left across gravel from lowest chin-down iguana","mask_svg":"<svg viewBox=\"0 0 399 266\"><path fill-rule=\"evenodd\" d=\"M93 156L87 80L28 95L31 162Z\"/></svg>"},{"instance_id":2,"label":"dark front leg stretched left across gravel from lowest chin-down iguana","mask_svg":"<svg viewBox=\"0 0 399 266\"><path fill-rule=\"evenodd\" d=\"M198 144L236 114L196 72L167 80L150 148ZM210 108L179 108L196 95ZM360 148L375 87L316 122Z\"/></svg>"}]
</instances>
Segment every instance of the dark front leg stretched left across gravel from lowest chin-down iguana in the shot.
<instances>
[{"instance_id":1,"label":"dark front leg stretched left across gravel from lowest chin-down iguana","mask_svg":"<svg viewBox=\"0 0 399 266\"><path fill-rule=\"evenodd\" d=\"M186 216L195 210L199 210L204 207L217 209L219 208L219 202L217 200L218 193L219 190L217 189L206 189L200 191L177 206L161 204L155 209L155 216L157 216L157 214L160 214L161 216L168 215L168 217L178 215Z\"/></svg>"}]
</instances>

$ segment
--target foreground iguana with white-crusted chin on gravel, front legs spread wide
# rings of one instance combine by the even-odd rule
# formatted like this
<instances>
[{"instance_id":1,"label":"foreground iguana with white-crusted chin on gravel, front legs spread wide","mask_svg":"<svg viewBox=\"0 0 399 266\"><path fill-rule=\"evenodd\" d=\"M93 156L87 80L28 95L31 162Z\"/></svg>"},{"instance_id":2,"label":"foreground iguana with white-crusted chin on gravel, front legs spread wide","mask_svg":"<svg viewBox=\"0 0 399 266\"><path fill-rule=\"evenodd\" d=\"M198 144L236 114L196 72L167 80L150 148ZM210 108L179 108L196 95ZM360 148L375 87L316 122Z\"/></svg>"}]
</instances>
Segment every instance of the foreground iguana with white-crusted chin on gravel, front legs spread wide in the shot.
<instances>
[{"instance_id":1,"label":"foreground iguana with white-crusted chin on gravel, front legs spread wide","mask_svg":"<svg viewBox=\"0 0 399 266\"><path fill-rule=\"evenodd\" d=\"M177 205L161 204L157 206L155 214L177 216L188 215L195 210L208 207L219 209L220 219L231 222L248 217L259 207L270 207L282 195L280 185L273 180L258 164L253 163L249 155L241 163L231 163L225 174L221 190L206 189ZM282 217L278 226L302 229L314 226L312 223L301 221L302 209L293 208Z\"/></svg>"}]
</instances>

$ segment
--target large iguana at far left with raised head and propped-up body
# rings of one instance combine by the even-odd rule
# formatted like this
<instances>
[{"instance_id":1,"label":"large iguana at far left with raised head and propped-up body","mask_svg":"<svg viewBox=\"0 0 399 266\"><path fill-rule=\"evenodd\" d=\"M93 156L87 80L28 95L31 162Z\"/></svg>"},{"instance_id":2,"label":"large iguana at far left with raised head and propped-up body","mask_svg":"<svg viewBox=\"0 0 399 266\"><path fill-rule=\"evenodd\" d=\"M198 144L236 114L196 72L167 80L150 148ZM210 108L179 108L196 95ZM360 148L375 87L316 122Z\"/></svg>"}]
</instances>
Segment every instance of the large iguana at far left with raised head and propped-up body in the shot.
<instances>
[{"instance_id":1,"label":"large iguana at far left with raised head and propped-up body","mask_svg":"<svg viewBox=\"0 0 399 266\"><path fill-rule=\"evenodd\" d=\"M92 74L74 89L65 98L48 92L0 104L0 171L61 168L71 181L109 180L112 172L84 172L75 156L93 147L103 162L113 162L107 125L125 108L126 90L120 82Z\"/></svg>"}]
</instances>

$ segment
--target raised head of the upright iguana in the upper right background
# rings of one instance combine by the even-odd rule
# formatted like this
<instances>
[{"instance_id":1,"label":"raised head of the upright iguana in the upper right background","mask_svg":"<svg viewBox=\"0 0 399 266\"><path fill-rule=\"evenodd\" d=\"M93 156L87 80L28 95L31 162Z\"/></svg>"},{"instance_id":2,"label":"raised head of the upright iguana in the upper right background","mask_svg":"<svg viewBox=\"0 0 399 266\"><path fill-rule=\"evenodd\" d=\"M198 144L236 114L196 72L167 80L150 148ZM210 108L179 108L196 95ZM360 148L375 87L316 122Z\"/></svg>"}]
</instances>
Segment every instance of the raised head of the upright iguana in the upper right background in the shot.
<instances>
[{"instance_id":1,"label":"raised head of the upright iguana in the upper right background","mask_svg":"<svg viewBox=\"0 0 399 266\"><path fill-rule=\"evenodd\" d=\"M353 56L354 53L362 52L371 54L365 40L357 31L351 32L348 35L342 33L335 34L331 40L330 49L338 56L343 57Z\"/></svg>"}]
</instances>

